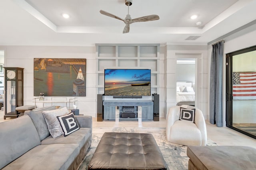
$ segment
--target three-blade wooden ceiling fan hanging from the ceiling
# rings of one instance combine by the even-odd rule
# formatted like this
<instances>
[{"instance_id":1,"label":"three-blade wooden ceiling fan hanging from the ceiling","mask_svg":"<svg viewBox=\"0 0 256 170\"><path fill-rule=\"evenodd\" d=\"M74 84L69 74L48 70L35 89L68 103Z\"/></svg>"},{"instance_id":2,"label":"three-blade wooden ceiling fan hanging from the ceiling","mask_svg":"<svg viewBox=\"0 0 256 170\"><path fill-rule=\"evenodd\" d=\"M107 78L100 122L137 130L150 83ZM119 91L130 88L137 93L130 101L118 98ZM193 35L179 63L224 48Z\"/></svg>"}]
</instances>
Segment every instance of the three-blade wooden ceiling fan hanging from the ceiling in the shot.
<instances>
[{"instance_id":1,"label":"three-blade wooden ceiling fan hanging from the ceiling","mask_svg":"<svg viewBox=\"0 0 256 170\"><path fill-rule=\"evenodd\" d=\"M143 16L143 17L132 19L130 14L129 14L129 6L132 5L132 0L125 0L125 4L128 6L128 14L126 15L125 19L122 19L122 18L120 18L118 16L115 16L113 14L110 14L110 13L108 13L106 11L100 10L100 14L103 14L105 16L109 16L109 17L116 18L118 20L124 21L124 23L126 25L124 27L123 33L128 33L130 31L130 24L131 23L159 20L159 16L158 15L149 15L149 16Z\"/></svg>"}]
</instances>

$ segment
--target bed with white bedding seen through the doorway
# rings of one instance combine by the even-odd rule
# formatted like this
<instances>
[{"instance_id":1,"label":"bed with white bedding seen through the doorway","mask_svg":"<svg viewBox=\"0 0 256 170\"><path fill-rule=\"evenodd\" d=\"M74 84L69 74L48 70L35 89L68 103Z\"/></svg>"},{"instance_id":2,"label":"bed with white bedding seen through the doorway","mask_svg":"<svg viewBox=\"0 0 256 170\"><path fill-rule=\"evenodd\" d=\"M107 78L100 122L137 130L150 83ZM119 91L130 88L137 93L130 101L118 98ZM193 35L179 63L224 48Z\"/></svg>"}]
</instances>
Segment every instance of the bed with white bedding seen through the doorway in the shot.
<instances>
[{"instance_id":1,"label":"bed with white bedding seen through the doorway","mask_svg":"<svg viewBox=\"0 0 256 170\"><path fill-rule=\"evenodd\" d=\"M186 104L186 105L195 105L195 92L194 92L194 83L193 82L177 82L176 84L176 102L177 106Z\"/></svg>"}]
</instances>

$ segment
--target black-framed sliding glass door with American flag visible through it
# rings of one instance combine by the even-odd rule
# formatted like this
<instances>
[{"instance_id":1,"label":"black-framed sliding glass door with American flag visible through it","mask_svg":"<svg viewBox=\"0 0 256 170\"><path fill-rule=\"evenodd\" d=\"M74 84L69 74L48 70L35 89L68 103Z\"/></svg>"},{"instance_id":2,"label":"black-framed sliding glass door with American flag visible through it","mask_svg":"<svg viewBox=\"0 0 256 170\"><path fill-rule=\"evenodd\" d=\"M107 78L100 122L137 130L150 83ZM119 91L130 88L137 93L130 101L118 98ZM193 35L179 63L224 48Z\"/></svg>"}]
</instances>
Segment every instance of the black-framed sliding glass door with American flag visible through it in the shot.
<instances>
[{"instance_id":1,"label":"black-framed sliding glass door with American flag visible through it","mask_svg":"<svg viewBox=\"0 0 256 170\"><path fill-rule=\"evenodd\" d=\"M227 54L227 126L256 139L256 46Z\"/></svg>"}]
</instances>

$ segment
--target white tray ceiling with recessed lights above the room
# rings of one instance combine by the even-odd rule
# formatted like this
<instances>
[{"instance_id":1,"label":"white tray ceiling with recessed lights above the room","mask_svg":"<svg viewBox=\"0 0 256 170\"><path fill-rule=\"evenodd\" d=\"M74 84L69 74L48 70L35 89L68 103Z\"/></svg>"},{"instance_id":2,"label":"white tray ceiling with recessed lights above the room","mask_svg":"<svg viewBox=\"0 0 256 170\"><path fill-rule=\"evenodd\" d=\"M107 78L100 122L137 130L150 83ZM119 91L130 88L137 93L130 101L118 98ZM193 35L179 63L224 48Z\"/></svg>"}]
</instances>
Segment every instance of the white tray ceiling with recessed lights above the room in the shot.
<instances>
[{"instance_id":1,"label":"white tray ceiling with recessed lights above the room","mask_svg":"<svg viewBox=\"0 0 256 170\"><path fill-rule=\"evenodd\" d=\"M0 45L95 43L207 44L256 20L256 0L133 0L132 18L157 14L160 20L132 23L123 34L125 0L0 0ZM64 19L62 13L68 13ZM196 14L198 18L191 20ZM202 25L197 26L196 22ZM189 36L200 36L186 40Z\"/></svg>"}]
</instances>

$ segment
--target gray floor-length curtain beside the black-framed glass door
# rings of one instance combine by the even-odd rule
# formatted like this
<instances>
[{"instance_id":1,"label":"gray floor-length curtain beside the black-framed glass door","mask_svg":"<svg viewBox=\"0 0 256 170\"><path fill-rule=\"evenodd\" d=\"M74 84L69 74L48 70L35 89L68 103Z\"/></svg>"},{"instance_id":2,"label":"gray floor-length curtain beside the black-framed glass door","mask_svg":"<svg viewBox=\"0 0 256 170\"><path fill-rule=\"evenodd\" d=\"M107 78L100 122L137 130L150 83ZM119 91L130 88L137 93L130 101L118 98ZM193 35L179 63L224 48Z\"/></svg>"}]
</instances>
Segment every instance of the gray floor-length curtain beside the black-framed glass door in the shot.
<instances>
[{"instance_id":1,"label":"gray floor-length curtain beside the black-framed glass door","mask_svg":"<svg viewBox=\"0 0 256 170\"><path fill-rule=\"evenodd\" d=\"M222 111L222 71L223 71L223 44L220 41L212 45L210 68L210 123L223 126Z\"/></svg>"}]
</instances>

